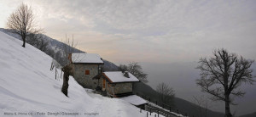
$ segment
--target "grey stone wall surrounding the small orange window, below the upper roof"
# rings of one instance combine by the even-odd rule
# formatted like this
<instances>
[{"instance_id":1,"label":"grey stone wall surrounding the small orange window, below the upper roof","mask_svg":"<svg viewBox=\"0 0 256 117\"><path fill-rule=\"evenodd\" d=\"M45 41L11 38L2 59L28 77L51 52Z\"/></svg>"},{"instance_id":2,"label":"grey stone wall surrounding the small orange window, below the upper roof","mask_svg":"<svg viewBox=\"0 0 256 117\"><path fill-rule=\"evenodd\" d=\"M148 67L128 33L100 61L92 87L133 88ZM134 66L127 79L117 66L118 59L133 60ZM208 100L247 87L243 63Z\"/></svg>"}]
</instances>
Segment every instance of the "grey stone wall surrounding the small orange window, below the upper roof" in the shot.
<instances>
[{"instance_id":1,"label":"grey stone wall surrounding the small orange window, below the upper roof","mask_svg":"<svg viewBox=\"0 0 256 117\"><path fill-rule=\"evenodd\" d=\"M74 64L74 79L85 88L95 89L97 81L92 78L99 74L101 66L101 64ZM85 75L85 70L90 70L90 75Z\"/></svg>"}]
</instances>

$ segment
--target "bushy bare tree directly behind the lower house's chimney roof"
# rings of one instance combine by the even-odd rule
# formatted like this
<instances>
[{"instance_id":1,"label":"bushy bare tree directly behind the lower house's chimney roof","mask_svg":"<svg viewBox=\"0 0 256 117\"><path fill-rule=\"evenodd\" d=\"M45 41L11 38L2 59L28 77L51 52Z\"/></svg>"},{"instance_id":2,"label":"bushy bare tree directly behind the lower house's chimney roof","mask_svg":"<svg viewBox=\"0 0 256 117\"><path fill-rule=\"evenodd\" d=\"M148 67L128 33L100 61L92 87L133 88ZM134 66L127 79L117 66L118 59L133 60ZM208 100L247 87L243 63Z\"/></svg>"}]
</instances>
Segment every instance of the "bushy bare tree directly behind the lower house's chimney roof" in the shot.
<instances>
[{"instance_id":1,"label":"bushy bare tree directly behind the lower house's chimney roof","mask_svg":"<svg viewBox=\"0 0 256 117\"><path fill-rule=\"evenodd\" d=\"M129 71L132 75L135 75L140 81L143 81L143 82L148 82L147 80L147 76L148 74L145 74L143 72L143 68L140 64L138 63L130 63L128 65L125 65L125 64L120 64L119 65L119 70L121 71Z\"/></svg>"}]
</instances>

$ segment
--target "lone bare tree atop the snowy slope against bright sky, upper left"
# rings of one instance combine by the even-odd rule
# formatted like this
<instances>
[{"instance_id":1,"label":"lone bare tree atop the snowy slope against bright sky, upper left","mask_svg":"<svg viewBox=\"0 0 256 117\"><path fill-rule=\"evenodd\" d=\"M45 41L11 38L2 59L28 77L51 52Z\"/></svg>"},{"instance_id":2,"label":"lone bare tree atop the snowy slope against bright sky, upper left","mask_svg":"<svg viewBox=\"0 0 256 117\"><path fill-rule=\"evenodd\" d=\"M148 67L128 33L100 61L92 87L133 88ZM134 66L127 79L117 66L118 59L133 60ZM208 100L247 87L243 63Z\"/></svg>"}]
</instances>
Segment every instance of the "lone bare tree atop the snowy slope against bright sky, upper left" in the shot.
<instances>
[{"instance_id":1,"label":"lone bare tree atop the snowy slope against bright sky, upper left","mask_svg":"<svg viewBox=\"0 0 256 117\"><path fill-rule=\"evenodd\" d=\"M25 47L26 36L31 33L38 33L41 29L36 29L35 17L32 12L32 8L22 3L19 8L12 14L10 14L7 22L7 26L11 31L20 35L23 40L22 47Z\"/></svg>"}]
</instances>

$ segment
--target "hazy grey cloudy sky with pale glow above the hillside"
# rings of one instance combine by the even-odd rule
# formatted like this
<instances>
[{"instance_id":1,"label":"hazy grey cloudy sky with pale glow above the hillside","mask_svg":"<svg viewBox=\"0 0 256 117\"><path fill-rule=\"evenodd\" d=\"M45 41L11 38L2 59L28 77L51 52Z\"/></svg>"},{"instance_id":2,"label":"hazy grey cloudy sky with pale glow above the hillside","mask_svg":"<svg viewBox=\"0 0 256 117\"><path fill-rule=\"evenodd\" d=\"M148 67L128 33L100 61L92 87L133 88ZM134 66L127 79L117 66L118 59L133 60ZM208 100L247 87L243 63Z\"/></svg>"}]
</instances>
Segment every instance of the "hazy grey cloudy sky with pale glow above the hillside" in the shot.
<instances>
[{"instance_id":1,"label":"hazy grey cloudy sky with pale glow above the hillside","mask_svg":"<svg viewBox=\"0 0 256 117\"><path fill-rule=\"evenodd\" d=\"M0 0L0 27L21 0ZM195 65L219 47L256 59L256 1L24 0L45 34L74 35L78 47L115 64L140 62L149 85L169 82L188 99ZM192 79L188 78L193 77ZM170 78L166 78L170 76ZM184 86L178 87L179 86ZM199 88L193 88L200 92ZM256 89L256 88L255 88ZM253 111L245 111L249 113ZM255 110L254 110L255 111Z\"/></svg>"}]
</instances>

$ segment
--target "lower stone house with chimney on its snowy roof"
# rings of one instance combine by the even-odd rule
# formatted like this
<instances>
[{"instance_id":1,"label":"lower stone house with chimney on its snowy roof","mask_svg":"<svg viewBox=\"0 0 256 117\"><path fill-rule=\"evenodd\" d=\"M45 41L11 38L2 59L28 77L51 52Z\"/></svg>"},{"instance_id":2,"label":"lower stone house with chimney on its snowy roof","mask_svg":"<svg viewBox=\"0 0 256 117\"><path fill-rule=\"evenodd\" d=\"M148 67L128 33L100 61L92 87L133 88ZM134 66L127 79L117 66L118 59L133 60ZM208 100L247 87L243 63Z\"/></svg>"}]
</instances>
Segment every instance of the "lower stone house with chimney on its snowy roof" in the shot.
<instances>
[{"instance_id":1,"label":"lower stone house with chimney on its snowy roof","mask_svg":"<svg viewBox=\"0 0 256 117\"><path fill-rule=\"evenodd\" d=\"M133 82L138 82L137 77L125 71L102 72L93 78L103 92L110 97L125 97L132 94Z\"/></svg>"}]
</instances>

